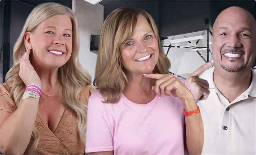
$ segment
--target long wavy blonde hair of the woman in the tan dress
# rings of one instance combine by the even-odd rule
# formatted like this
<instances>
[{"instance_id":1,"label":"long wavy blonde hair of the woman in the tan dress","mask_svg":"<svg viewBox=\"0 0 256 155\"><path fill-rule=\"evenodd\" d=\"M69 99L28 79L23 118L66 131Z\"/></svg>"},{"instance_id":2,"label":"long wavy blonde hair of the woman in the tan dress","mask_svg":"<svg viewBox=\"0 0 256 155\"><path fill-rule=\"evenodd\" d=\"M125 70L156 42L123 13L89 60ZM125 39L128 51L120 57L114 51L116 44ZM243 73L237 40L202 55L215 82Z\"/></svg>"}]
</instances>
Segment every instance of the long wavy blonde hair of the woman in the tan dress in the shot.
<instances>
[{"instance_id":1,"label":"long wavy blonde hair of the woman in the tan dress","mask_svg":"<svg viewBox=\"0 0 256 155\"><path fill-rule=\"evenodd\" d=\"M82 69L78 60L79 36L77 20L74 12L70 8L58 3L43 3L33 9L33 11L27 17L19 38L14 45L14 65L6 74L6 84L10 89L10 94L12 95L16 106L19 107L19 103L26 88L26 85L19 77L19 60L27 50L24 39L25 32L35 31L36 27L40 23L55 15L69 16L72 23L73 32L73 48L71 57L66 64L58 69L58 79L60 79L59 83L61 87L59 98L65 104L66 108L76 114L80 138L85 143L87 107L85 104L80 103L77 97L82 88L91 84L91 77ZM29 154L35 153L39 142L39 134L35 126L32 136L34 141L31 145L31 149L29 150Z\"/></svg>"}]
</instances>

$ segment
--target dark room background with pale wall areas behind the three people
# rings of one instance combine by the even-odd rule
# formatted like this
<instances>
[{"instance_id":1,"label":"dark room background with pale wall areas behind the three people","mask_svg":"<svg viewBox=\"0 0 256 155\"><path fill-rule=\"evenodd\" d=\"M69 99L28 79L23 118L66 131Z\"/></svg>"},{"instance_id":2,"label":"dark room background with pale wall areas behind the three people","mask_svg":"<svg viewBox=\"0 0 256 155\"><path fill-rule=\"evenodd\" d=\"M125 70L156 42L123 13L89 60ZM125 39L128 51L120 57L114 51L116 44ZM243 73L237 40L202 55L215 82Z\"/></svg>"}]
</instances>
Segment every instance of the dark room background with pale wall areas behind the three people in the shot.
<instances>
[{"instance_id":1,"label":"dark room background with pale wall areas behind the three people","mask_svg":"<svg viewBox=\"0 0 256 155\"><path fill-rule=\"evenodd\" d=\"M195 69L212 59L212 27L218 14L240 6L255 18L255 1L0 1L1 83L12 67L13 46L27 16L41 3L56 2L71 8L77 17L79 60L92 79L98 50L98 39L105 18L122 6L134 6L153 17L159 31L163 52L171 61L170 73L186 78ZM255 61L252 67L255 67Z\"/></svg>"}]
</instances>

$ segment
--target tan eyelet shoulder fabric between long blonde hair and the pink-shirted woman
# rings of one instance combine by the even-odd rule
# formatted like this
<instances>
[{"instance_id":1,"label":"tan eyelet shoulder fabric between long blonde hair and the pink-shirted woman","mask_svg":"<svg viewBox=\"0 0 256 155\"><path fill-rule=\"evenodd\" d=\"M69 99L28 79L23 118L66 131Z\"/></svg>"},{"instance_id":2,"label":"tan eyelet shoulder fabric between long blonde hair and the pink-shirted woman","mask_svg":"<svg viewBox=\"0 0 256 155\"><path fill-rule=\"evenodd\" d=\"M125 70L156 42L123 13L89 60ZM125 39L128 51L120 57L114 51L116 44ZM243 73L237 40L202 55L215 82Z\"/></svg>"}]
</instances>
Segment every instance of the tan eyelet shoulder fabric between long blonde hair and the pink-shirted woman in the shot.
<instances>
[{"instance_id":1,"label":"tan eyelet shoulder fabric between long blonde hair and the pink-shirted woman","mask_svg":"<svg viewBox=\"0 0 256 155\"><path fill-rule=\"evenodd\" d=\"M85 86L79 93L78 95L78 100L82 103L88 104L88 99L89 97L95 93L97 91L97 89L92 86L92 85L88 85Z\"/></svg>"}]
</instances>

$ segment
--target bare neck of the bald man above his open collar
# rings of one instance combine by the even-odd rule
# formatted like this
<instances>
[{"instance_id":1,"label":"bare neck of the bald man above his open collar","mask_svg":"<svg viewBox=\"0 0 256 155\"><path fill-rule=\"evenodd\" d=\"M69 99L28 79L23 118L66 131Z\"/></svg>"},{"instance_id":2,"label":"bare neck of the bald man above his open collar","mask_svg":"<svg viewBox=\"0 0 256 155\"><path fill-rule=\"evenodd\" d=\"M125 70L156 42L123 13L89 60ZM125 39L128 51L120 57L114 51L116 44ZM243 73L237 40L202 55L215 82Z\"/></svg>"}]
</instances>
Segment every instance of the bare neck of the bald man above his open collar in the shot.
<instances>
[{"instance_id":1,"label":"bare neck of the bald man above his open collar","mask_svg":"<svg viewBox=\"0 0 256 155\"><path fill-rule=\"evenodd\" d=\"M231 103L250 87L252 81L251 68L244 68L236 73L230 73L221 67L214 68L213 81L221 94Z\"/></svg>"}]
</instances>

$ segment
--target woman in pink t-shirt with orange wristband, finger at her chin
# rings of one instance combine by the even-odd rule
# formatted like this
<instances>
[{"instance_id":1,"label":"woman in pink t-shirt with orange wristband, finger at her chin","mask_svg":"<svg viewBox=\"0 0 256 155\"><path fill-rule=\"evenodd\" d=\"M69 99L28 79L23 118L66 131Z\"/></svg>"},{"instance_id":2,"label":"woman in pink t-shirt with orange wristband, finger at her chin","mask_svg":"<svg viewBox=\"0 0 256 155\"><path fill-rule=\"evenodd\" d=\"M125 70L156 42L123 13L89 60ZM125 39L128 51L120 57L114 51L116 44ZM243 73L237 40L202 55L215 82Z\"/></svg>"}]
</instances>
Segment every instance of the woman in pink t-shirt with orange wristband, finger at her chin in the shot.
<instances>
[{"instance_id":1,"label":"woman in pink t-shirt with orange wristband, finger at her chin","mask_svg":"<svg viewBox=\"0 0 256 155\"><path fill-rule=\"evenodd\" d=\"M88 101L85 151L184 154L187 146L187 153L201 154L199 108L185 81L168 74L170 61L152 17L138 8L116 9L104 22L99 44L99 91Z\"/></svg>"}]
</instances>

